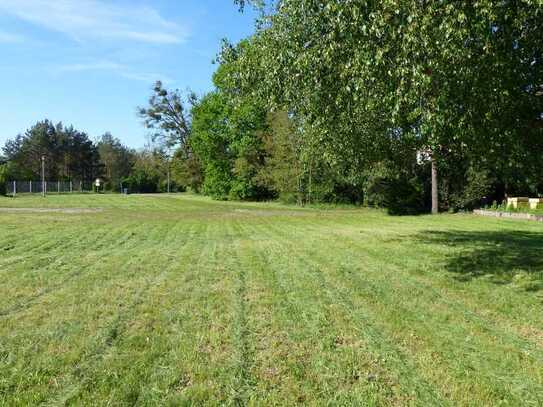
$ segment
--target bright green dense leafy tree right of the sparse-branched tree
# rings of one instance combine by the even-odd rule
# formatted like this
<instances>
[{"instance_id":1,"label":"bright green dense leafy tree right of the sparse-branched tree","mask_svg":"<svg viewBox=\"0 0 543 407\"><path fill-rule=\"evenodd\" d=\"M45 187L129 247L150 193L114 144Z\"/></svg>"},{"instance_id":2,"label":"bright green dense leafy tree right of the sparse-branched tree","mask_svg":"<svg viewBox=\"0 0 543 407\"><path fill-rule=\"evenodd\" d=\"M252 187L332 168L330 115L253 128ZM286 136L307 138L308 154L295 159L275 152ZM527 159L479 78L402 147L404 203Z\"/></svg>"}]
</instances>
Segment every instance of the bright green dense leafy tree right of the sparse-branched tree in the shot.
<instances>
[{"instance_id":1,"label":"bright green dense leafy tree right of the sparse-branched tree","mask_svg":"<svg viewBox=\"0 0 543 407\"><path fill-rule=\"evenodd\" d=\"M217 90L191 112L189 143L203 168L203 192L216 199L267 199L271 192L258 182L266 113L255 100L230 96L228 68L219 68L214 78Z\"/></svg>"}]
</instances>

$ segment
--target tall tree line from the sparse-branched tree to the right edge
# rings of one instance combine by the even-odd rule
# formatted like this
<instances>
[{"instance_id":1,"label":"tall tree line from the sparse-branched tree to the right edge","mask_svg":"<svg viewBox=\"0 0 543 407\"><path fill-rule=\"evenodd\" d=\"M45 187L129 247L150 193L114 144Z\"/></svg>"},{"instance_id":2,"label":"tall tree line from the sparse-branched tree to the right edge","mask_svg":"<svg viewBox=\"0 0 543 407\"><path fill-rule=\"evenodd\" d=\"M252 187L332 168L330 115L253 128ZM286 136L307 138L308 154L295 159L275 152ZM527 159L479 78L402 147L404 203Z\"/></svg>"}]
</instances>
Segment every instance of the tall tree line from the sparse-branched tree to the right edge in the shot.
<instances>
[{"instance_id":1,"label":"tall tree line from the sparse-branched tree to the right edge","mask_svg":"<svg viewBox=\"0 0 543 407\"><path fill-rule=\"evenodd\" d=\"M235 3L255 33L214 89L157 82L139 109L179 188L391 213L543 195L540 0Z\"/></svg>"}]
</instances>

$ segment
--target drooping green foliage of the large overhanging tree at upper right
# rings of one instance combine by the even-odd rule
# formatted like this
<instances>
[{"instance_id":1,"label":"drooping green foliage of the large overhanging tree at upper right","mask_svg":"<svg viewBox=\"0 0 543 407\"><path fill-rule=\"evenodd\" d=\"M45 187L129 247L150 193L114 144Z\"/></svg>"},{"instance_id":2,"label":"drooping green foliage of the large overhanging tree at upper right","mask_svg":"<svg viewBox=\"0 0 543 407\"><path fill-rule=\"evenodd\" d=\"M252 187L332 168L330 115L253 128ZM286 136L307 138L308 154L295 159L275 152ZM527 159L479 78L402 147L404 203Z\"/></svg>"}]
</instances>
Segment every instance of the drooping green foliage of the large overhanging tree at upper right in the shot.
<instances>
[{"instance_id":1,"label":"drooping green foliage of the large overhanging tree at upper right","mask_svg":"<svg viewBox=\"0 0 543 407\"><path fill-rule=\"evenodd\" d=\"M467 207L485 192L470 166L492 195L541 193L542 15L534 1L281 1L222 58L244 93L303 123L333 174L428 151L442 206Z\"/></svg>"}]
</instances>

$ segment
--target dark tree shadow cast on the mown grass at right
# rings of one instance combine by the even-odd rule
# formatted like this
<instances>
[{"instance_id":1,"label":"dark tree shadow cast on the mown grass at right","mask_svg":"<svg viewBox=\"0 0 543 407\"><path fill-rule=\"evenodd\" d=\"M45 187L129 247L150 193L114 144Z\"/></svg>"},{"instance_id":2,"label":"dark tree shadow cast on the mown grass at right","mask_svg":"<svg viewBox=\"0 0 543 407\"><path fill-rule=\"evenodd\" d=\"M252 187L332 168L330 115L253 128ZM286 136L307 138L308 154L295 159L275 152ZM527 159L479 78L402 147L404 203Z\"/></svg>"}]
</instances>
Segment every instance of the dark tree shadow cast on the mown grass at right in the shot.
<instances>
[{"instance_id":1,"label":"dark tree shadow cast on the mown grass at right","mask_svg":"<svg viewBox=\"0 0 543 407\"><path fill-rule=\"evenodd\" d=\"M459 281L486 278L527 291L543 289L543 233L427 231L418 239L453 248L445 268Z\"/></svg>"}]
</instances>

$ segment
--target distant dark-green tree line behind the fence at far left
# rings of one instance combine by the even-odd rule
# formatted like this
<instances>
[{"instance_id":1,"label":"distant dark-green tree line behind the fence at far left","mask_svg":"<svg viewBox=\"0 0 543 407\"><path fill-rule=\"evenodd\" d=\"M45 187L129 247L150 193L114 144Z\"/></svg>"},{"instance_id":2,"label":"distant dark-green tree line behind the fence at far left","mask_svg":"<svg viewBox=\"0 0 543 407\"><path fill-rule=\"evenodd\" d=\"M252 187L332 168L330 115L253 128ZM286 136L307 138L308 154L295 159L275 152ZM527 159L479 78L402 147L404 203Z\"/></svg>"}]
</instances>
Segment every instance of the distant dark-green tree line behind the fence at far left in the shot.
<instances>
[{"instance_id":1,"label":"distant dark-green tree line behind the fence at far left","mask_svg":"<svg viewBox=\"0 0 543 407\"><path fill-rule=\"evenodd\" d=\"M93 141L73 126L49 120L36 123L24 134L8 140L0 156L0 192L7 181L41 181L42 165L49 181L94 181L119 192L165 191L169 162L157 146L136 151L110 133ZM180 188L174 183L172 191Z\"/></svg>"}]
</instances>

